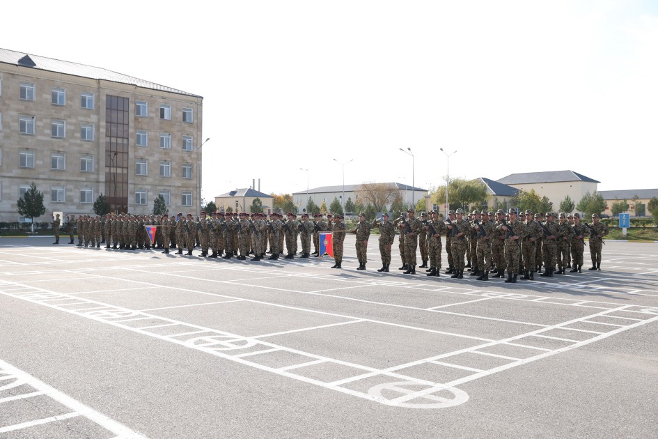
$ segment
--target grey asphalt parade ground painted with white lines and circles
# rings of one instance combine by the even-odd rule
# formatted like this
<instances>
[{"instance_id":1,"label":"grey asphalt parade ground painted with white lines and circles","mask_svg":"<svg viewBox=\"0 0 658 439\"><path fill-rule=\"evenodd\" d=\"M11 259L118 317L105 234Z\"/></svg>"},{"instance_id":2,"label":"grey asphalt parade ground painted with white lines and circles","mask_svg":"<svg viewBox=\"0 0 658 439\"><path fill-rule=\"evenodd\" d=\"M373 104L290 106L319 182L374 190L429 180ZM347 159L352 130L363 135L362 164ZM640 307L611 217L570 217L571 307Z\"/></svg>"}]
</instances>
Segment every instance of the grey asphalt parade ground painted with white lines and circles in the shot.
<instances>
[{"instance_id":1,"label":"grey asphalt parade ground painted with white lines and circles","mask_svg":"<svg viewBox=\"0 0 658 439\"><path fill-rule=\"evenodd\" d=\"M657 437L655 243L505 284L51 242L0 240L3 439Z\"/></svg>"}]
</instances>

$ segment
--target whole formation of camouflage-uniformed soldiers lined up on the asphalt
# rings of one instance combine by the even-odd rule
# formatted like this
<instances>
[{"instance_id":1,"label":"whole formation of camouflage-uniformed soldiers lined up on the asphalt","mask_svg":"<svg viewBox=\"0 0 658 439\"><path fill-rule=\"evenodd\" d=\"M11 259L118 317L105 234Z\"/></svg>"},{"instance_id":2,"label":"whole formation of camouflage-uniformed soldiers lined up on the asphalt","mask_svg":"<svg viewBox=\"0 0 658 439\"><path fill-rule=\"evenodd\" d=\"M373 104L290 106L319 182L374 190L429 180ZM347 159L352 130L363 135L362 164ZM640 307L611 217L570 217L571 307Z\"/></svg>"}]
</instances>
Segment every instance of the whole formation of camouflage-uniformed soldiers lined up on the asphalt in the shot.
<instances>
[{"instance_id":1,"label":"whole formation of camouflage-uniformed soldiers lined up on the asphalt","mask_svg":"<svg viewBox=\"0 0 658 439\"><path fill-rule=\"evenodd\" d=\"M542 272L542 262L545 268L542 276L552 277L554 274L581 272L583 265L584 238L589 236L592 268L600 270L603 236L608 233L607 227L599 221L598 215L592 215L592 222L581 222L578 213L565 215L549 212L544 215L530 210L519 213L510 209L508 213L498 210L486 212L477 210L464 217L462 209L448 211L447 218L440 218L436 211L421 213L421 219L415 217L414 210L407 210L406 215L391 222L388 214L381 219L375 219L370 224L362 213L359 222L353 230L347 231L343 217L327 215L327 222L322 214L314 215L311 221L308 214L283 215L272 213L267 216L262 213L212 213L207 217L205 212L195 219L191 214L173 215L106 215L105 217L89 217L73 215L67 217L67 229L70 244L74 243L74 226L77 227L78 245L100 247L106 243L106 248L113 249L150 249L161 248L169 254L171 247L177 248L177 254L191 256L195 245L201 247L202 257L230 259L236 256L244 260L253 255L251 261L265 258L269 243L269 259L279 259L283 254L283 245L287 255L285 259L294 259L297 252L297 236L301 238L301 257L311 256L311 242L319 255L320 232L334 233L332 242L334 250L334 266L342 268L343 242L345 233L356 235L357 259L359 268L366 270L367 248L370 231L379 229L379 252L382 258L382 268L379 272L389 272L391 263L391 247L395 239L395 231L399 231L399 249L402 267L405 274L416 274L416 256L418 248L423 262L419 268L428 268L428 276L439 276L441 270L441 251L443 248L441 236L446 237L446 254L448 269L446 274L462 279L464 268L469 268L471 276L478 280L489 280L489 272L495 272L492 277L504 277L506 282L515 283L517 275L522 279L534 279L535 272ZM556 217L558 221L556 222ZM151 242L145 226L156 226L155 238ZM59 219L54 220L56 242L59 242ZM113 244L113 246L111 245ZM208 254L212 251L212 254ZM222 256L224 254L224 256ZM464 258L466 261L464 261ZM430 264L428 266L428 263ZM558 270L555 270L555 267Z\"/></svg>"}]
</instances>

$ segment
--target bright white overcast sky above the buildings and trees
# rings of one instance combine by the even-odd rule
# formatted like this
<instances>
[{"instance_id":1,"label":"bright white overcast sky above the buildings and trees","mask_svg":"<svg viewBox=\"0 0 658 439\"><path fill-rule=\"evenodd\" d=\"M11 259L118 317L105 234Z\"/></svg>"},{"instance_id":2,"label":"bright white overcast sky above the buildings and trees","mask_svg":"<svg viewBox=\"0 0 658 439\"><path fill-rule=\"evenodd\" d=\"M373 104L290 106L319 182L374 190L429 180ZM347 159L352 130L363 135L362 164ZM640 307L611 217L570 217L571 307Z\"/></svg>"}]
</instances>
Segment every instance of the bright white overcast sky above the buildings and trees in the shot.
<instances>
[{"instance_id":1,"label":"bright white overcast sky above the buildings and trees","mask_svg":"<svg viewBox=\"0 0 658 439\"><path fill-rule=\"evenodd\" d=\"M277 194L343 176L430 189L448 165L658 187L655 0L35 0L2 15L0 47L203 96L205 199L259 178Z\"/></svg>"}]
</instances>

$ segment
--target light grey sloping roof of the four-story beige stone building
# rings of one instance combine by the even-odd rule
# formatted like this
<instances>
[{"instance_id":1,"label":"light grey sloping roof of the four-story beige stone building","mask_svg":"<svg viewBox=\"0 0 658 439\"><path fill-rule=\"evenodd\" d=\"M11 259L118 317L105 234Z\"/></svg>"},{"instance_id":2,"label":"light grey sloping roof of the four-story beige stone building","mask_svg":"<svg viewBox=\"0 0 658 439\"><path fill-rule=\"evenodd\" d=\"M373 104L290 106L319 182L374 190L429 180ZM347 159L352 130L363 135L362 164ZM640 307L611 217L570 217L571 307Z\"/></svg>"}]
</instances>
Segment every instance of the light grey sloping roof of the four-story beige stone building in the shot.
<instances>
[{"instance_id":1,"label":"light grey sloping roof of the four-story beige stone building","mask_svg":"<svg viewBox=\"0 0 658 439\"><path fill-rule=\"evenodd\" d=\"M35 68L38 70L47 70L49 72L64 73L65 75L74 75L91 79L104 79L106 81L120 82L122 84L131 84L138 87L150 88L152 90L201 98L201 96L188 93L187 91L155 84L155 82L123 75L123 73L113 72L112 70L86 66L85 64L72 63L70 61L60 61L58 59L46 58L45 56L26 54L25 52L15 52L9 49L0 49L0 63Z\"/></svg>"}]
</instances>

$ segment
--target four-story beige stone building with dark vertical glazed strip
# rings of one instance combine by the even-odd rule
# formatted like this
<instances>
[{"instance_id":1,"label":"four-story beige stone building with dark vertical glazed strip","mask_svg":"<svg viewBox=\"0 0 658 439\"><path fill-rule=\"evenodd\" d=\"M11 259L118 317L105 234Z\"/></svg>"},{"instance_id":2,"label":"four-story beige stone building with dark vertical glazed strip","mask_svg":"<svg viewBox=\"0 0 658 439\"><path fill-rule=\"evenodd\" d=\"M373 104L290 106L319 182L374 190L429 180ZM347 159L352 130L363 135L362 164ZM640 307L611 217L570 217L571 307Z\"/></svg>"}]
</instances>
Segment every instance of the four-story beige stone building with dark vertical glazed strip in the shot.
<instances>
[{"instance_id":1,"label":"four-story beige stone building with dark vertical glazed strip","mask_svg":"<svg viewBox=\"0 0 658 439\"><path fill-rule=\"evenodd\" d=\"M200 206L203 98L122 75L0 49L0 221L21 220L32 182L46 215ZM194 210L198 210L196 207ZM45 221L47 218L35 218Z\"/></svg>"}]
</instances>

